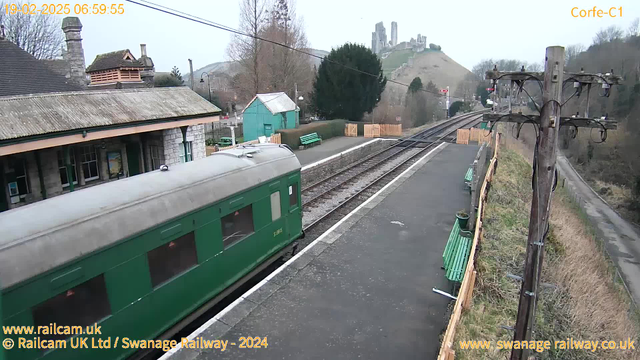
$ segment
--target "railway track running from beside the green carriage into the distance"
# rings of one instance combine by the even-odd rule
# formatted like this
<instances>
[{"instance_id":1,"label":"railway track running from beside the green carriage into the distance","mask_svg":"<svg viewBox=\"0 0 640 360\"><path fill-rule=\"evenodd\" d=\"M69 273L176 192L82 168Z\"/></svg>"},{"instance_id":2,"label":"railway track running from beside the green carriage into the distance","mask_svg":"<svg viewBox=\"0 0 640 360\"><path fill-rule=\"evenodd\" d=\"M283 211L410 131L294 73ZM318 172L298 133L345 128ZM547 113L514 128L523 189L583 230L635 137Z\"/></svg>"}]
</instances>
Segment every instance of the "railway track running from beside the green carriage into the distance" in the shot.
<instances>
[{"instance_id":1,"label":"railway track running from beside the green carriage into the distance","mask_svg":"<svg viewBox=\"0 0 640 360\"><path fill-rule=\"evenodd\" d=\"M303 191L303 208L313 206L315 209L323 209L315 218L307 217L303 213L303 227L306 232L304 239L298 240L297 249L302 250L313 242L318 236L337 223L346 214L366 201L379 189L384 187L398 174L418 161L420 157L439 145L446 138L451 137L457 129L473 125L480 121L482 112L465 114L451 121L441 123L430 129L401 139L397 144L378 151L352 166L338 173L313 183ZM455 136L453 137L455 138ZM353 186L349 186L349 184ZM342 196L338 201L332 202L332 196ZM346 196L344 194L347 194ZM307 215L308 216L308 215ZM248 280L239 286L232 286L223 294L213 299L215 305L208 310L192 314L188 320L183 320L179 325L181 330L175 332L170 338L180 340L199 328L202 324L214 317L229 304L237 300L247 290L262 281L265 277L284 264L294 254L282 251L274 256L271 262L266 262L260 268L247 275ZM151 360L158 359L164 353L157 350L140 351L129 359Z\"/></svg>"}]
</instances>

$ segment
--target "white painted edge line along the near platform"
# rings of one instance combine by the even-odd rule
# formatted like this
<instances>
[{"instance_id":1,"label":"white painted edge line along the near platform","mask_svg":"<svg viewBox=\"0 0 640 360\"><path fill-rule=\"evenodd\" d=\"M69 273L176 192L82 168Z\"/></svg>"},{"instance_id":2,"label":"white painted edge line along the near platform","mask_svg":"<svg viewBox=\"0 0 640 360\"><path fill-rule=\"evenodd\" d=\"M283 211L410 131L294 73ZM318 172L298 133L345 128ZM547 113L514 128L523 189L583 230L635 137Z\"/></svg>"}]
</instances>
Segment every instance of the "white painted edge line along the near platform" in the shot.
<instances>
[{"instance_id":1,"label":"white painted edge line along the near platform","mask_svg":"<svg viewBox=\"0 0 640 360\"><path fill-rule=\"evenodd\" d=\"M375 141L378 139L374 139L372 141ZM365 205L367 205L369 202L371 202L373 199L375 199L376 197L378 197L378 195L380 195L383 191L385 191L389 186L391 186L393 183L395 183L398 179L400 179L402 176L404 176L407 172L409 172L411 169L413 169L414 167L416 167L418 164L422 163L422 161L427 158L429 155L431 155L431 153L433 153L434 151L436 151L437 149L441 148L443 145L445 145L446 143L441 143L440 145L436 146L435 148L433 148L431 151L429 151L428 153L426 153L424 156L422 156L420 158L420 160L416 161L413 165L409 166L408 169L406 169L405 171L403 171L400 175L396 176L395 178L393 178L393 180L391 180L387 185L385 185L382 189L378 190L375 194L373 194L370 198L368 198L367 200L365 200L365 202L363 202L362 204L358 205L358 207L356 207L355 209L353 209L353 211L351 211L349 214L347 214L345 217L343 217L342 219L340 219L340 221L338 221L337 223L335 223L332 227L330 227L327 231L325 231L324 233L322 233L322 235L320 235L317 239L315 239L314 241L312 241L309 245L307 245L307 247L305 247L304 249L302 249L298 254L296 254L295 256L293 256L291 259L289 259L287 262L285 262L284 264L282 264L282 266L280 266L279 268L277 268L274 272L272 272L271 274L269 274L269 276L265 277L264 279L262 279L262 281L260 281L259 283L255 284L251 289L247 290L247 292L245 292L244 294L242 294L238 299L236 299L234 302L232 302L231 304L227 305L226 308L224 308L222 311L220 311L218 314L216 314L216 316L212 317L211 319L209 319L207 322L205 322L204 324L202 324L202 326L200 326L199 328L197 328L194 332L192 332L191 334L189 334L189 336L187 336L187 339L189 340L193 340L195 339L198 335L200 335L204 330L206 330L207 328L209 328L214 322L218 321L222 316L224 316L226 313L228 313L229 311L231 311L236 305L240 304L243 300L245 300L249 295L253 294L255 291L257 291L258 289L260 289L264 284L266 284L267 282L269 282L269 280L271 280L274 276L276 276L277 274L279 274L282 270L286 269L287 267L289 267L289 265L291 265L294 261L296 261L296 259L298 259L300 256L302 256L303 254L305 254L307 251L309 251L312 247L314 247L319 241L322 241L322 239L324 239L325 237L327 237L331 232L333 232L333 230L335 230L338 226L340 226L343 222L345 222L347 219L349 219L353 214L355 214L356 212L358 212L361 208L363 208ZM180 349L182 348L182 343L178 342L178 345L174 348L172 348L171 350L167 351L164 355L162 355L158 360L166 360L168 359L171 355L175 354L176 352L178 352Z\"/></svg>"}]
</instances>

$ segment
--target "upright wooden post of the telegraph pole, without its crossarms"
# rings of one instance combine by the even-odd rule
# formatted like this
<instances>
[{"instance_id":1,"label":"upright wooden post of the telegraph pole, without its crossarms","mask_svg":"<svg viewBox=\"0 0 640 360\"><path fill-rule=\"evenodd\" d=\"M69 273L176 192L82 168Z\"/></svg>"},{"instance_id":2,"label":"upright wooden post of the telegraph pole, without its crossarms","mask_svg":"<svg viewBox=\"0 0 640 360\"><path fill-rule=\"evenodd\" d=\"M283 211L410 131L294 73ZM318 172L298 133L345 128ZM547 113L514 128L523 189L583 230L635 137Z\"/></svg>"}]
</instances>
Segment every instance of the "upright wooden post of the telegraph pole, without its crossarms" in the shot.
<instances>
[{"instance_id":1,"label":"upright wooden post of the telegraph pole, without its crossarms","mask_svg":"<svg viewBox=\"0 0 640 360\"><path fill-rule=\"evenodd\" d=\"M528 341L535 324L535 307L538 285L544 259L544 241L549 226L551 194L556 172L558 130L560 129L560 104L562 103L562 80L564 71L564 48L547 48L540 109L540 138L534 154L533 198L524 276L520 289L520 303L516 318L514 341ZM526 349L514 349L511 360L526 359Z\"/></svg>"}]
</instances>

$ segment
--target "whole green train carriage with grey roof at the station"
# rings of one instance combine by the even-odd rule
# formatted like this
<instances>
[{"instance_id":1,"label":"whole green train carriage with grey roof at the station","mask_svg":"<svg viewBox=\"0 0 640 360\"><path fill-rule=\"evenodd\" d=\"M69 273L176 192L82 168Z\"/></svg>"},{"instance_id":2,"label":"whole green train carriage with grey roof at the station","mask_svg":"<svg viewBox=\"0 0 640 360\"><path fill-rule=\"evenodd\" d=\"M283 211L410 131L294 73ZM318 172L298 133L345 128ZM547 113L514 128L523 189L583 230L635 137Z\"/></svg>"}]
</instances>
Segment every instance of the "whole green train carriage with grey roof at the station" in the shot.
<instances>
[{"instance_id":1,"label":"whole green train carriage with grey roof at the station","mask_svg":"<svg viewBox=\"0 0 640 360\"><path fill-rule=\"evenodd\" d=\"M4 326L101 326L5 359L122 359L135 349L72 340L166 335L276 257L303 235L300 163L283 145L222 151L4 212L0 228Z\"/></svg>"}]
</instances>

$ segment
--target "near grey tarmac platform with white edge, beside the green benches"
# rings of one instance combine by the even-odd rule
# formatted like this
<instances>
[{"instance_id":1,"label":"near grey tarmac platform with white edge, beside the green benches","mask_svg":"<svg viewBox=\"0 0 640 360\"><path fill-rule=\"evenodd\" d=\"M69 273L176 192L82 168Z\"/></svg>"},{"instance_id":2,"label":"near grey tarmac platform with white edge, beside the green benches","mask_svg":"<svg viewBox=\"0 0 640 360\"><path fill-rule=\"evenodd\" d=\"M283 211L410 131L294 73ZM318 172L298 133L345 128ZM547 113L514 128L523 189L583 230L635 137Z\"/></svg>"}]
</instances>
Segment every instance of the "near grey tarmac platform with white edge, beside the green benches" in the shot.
<instances>
[{"instance_id":1,"label":"near grey tarmac platform with white edge, beside the green benches","mask_svg":"<svg viewBox=\"0 0 640 360\"><path fill-rule=\"evenodd\" d=\"M478 147L441 144L162 359L426 359L448 319L442 253ZM266 348L240 348L241 337ZM259 341L258 341L259 340Z\"/></svg>"}]
</instances>

